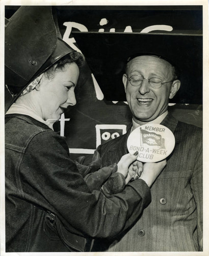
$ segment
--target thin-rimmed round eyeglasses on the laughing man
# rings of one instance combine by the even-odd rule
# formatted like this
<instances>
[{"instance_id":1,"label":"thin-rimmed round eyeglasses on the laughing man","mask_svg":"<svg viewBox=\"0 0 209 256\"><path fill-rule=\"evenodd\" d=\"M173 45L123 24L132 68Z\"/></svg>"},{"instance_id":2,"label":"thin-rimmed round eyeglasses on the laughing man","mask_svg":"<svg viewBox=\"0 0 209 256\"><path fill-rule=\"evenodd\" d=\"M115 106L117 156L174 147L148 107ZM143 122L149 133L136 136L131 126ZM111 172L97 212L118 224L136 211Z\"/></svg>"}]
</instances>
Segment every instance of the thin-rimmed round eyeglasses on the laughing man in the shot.
<instances>
[{"instance_id":1,"label":"thin-rimmed round eyeglasses on the laughing man","mask_svg":"<svg viewBox=\"0 0 209 256\"><path fill-rule=\"evenodd\" d=\"M128 81L130 82L130 84L132 84L132 86L140 86L142 81L144 79L147 79L149 84L150 84L150 86L152 88L154 88L154 89L159 89L159 88L162 87L162 85L164 83L167 83L167 82L163 82L162 79L158 78L158 77L152 77L152 78L148 79L148 78L144 78L143 76L140 76L140 75L133 75L131 77L127 76L127 78L128 78ZM168 82L173 82L173 80L172 81L168 81Z\"/></svg>"}]
</instances>

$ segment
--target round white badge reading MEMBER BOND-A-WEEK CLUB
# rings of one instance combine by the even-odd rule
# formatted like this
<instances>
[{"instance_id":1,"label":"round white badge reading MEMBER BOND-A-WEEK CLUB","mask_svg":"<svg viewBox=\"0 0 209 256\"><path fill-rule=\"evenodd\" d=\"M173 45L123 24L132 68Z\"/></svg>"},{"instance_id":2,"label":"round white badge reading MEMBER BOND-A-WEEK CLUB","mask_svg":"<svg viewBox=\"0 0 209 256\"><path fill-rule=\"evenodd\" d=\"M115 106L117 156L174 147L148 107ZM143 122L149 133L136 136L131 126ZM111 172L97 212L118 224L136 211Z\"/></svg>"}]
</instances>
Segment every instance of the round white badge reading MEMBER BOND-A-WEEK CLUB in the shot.
<instances>
[{"instance_id":1,"label":"round white badge reading MEMBER BOND-A-WEEK CLUB","mask_svg":"<svg viewBox=\"0 0 209 256\"><path fill-rule=\"evenodd\" d=\"M137 127L127 139L130 154L139 152L137 160L154 163L168 157L175 146L175 137L166 126L148 123Z\"/></svg>"}]
</instances>

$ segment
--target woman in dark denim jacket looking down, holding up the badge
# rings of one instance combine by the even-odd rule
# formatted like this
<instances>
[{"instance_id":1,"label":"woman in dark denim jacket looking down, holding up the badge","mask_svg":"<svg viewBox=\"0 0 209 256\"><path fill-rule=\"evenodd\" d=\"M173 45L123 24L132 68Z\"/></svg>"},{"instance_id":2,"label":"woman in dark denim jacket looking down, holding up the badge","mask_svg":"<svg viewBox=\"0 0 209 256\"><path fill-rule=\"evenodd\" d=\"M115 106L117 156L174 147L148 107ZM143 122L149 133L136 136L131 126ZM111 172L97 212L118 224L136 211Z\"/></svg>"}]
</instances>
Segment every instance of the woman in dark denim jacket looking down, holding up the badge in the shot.
<instances>
[{"instance_id":1,"label":"woman in dark denim jacket looking down, holding up the badge","mask_svg":"<svg viewBox=\"0 0 209 256\"><path fill-rule=\"evenodd\" d=\"M117 165L85 176L88 166L71 160L65 139L53 131L53 123L76 103L82 55L70 48L63 54L60 48L57 56L18 89L6 113L7 252L89 251L92 238L113 237L136 221L150 202L149 187L165 166L165 161L144 164L141 177L124 186L128 168L140 167L138 154L127 154Z\"/></svg>"}]
</instances>

